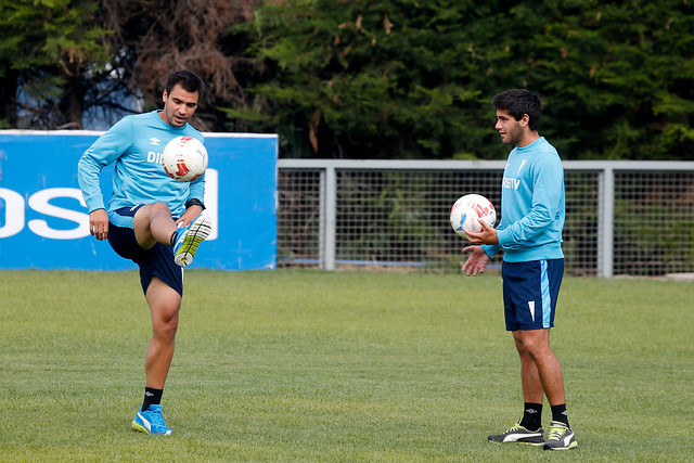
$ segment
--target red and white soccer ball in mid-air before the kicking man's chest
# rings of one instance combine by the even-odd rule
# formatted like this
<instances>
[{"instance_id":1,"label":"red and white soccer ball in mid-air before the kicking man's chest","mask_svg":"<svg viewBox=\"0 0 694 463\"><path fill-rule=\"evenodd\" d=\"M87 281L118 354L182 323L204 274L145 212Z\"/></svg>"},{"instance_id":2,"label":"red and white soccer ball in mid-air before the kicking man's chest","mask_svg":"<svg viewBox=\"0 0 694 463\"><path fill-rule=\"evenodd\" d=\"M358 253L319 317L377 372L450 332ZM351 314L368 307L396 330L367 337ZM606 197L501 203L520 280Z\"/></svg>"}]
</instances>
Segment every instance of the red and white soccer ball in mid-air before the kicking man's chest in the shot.
<instances>
[{"instance_id":1,"label":"red and white soccer ball in mid-air before the kicking man's chest","mask_svg":"<svg viewBox=\"0 0 694 463\"><path fill-rule=\"evenodd\" d=\"M164 147L162 164L174 180L192 182L207 169L207 150L193 137L176 137Z\"/></svg>"}]
</instances>

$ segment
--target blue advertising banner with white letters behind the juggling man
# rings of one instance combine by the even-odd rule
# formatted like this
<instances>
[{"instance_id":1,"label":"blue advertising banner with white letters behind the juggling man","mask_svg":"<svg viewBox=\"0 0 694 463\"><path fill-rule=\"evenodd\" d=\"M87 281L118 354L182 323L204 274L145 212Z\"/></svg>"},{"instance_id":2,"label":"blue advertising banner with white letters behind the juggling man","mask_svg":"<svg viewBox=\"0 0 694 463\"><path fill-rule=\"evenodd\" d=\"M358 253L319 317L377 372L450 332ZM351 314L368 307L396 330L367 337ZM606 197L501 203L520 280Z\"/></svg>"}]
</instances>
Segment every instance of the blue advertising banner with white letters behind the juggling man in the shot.
<instances>
[{"instance_id":1,"label":"blue advertising banner with white letters behind the juggling man","mask_svg":"<svg viewBox=\"0 0 694 463\"><path fill-rule=\"evenodd\" d=\"M77 162L101 134L0 130L0 269L126 270L134 263L89 234ZM210 236L190 268L273 269L275 134L204 133ZM102 173L111 195L113 166Z\"/></svg>"}]
</instances>

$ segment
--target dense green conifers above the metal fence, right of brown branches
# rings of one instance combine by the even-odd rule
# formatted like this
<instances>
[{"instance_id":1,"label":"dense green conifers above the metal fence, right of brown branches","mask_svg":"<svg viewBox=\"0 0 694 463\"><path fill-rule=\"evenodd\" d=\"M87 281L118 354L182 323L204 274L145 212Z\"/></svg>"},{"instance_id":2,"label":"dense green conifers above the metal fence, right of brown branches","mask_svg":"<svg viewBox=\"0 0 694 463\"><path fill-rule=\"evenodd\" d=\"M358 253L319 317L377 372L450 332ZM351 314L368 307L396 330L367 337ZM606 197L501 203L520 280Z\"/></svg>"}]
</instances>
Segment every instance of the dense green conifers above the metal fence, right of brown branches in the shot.
<instances>
[{"instance_id":1,"label":"dense green conifers above the metal fence, right of brown branches","mask_svg":"<svg viewBox=\"0 0 694 463\"><path fill-rule=\"evenodd\" d=\"M565 158L691 158L684 0L287 0L260 8L253 101L228 110L292 157L499 158L490 100L543 99Z\"/></svg>"}]
</instances>

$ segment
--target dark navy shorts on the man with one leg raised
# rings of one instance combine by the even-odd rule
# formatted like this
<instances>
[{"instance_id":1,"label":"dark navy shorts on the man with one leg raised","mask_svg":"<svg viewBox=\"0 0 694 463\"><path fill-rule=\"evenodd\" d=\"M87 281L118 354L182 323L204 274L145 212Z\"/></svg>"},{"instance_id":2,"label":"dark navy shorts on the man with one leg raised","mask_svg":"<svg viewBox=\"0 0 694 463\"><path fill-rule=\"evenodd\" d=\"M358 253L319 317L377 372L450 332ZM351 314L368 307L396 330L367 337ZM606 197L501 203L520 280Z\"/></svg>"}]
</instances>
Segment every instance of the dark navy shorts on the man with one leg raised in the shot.
<instances>
[{"instance_id":1,"label":"dark navy shorts on the man with one leg raised","mask_svg":"<svg viewBox=\"0 0 694 463\"><path fill-rule=\"evenodd\" d=\"M108 243L120 257L140 267L140 283L145 295L152 278L156 276L183 297L183 268L174 260L174 247L156 243L151 249L145 249L140 247L134 237L132 218L140 207L142 205L123 207L108 215Z\"/></svg>"}]
</instances>

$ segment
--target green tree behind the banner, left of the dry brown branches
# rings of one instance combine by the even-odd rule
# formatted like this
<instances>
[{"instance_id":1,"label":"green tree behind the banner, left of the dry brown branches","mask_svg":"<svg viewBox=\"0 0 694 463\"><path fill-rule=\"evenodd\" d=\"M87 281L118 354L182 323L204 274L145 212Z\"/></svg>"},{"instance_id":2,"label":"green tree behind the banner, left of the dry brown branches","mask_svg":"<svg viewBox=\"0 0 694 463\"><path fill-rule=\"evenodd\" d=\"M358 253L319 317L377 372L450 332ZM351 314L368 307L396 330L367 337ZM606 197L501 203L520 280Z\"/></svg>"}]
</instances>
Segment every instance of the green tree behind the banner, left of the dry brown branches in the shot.
<instances>
[{"instance_id":1,"label":"green tree behind the banner, left of the dry brown branches","mask_svg":"<svg viewBox=\"0 0 694 463\"><path fill-rule=\"evenodd\" d=\"M90 73L108 59L95 11L94 1L0 3L0 125L81 128Z\"/></svg>"}]
</instances>

